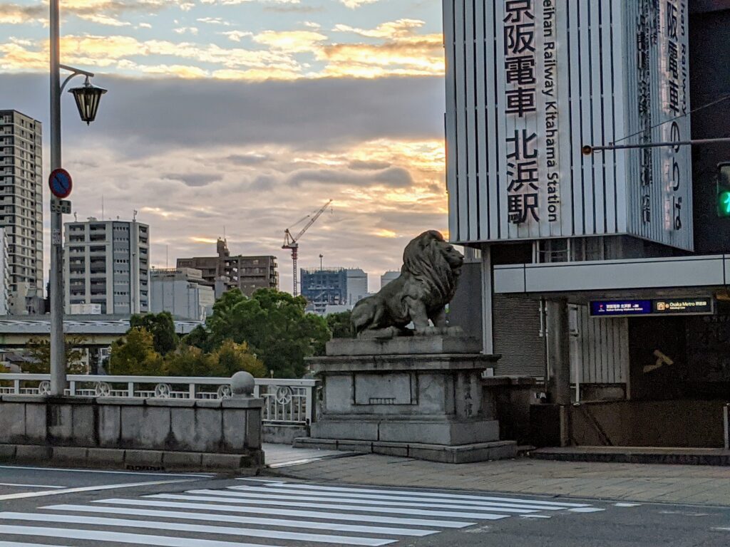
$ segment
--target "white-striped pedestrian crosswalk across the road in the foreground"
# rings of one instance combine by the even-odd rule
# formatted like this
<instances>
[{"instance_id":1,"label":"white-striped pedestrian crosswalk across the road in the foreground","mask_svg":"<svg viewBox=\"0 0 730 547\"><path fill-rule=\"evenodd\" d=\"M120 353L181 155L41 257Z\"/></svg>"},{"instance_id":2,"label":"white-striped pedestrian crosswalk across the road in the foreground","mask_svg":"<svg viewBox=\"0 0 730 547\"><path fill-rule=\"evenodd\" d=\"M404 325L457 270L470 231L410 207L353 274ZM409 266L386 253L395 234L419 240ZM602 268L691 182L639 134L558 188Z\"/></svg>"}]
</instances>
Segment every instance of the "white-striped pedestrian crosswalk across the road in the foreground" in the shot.
<instances>
[{"instance_id":1,"label":"white-striped pedestrian crosswalk across the road in the foreground","mask_svg":"<svg viewBox=\"0 0 730 547\"><path fill-rule=\"evenodd\" d=\"M224 489L0 512L0 547L379 547L481 521L603 511L585 503L245 479Z\"/></svg>"}]
</instances>

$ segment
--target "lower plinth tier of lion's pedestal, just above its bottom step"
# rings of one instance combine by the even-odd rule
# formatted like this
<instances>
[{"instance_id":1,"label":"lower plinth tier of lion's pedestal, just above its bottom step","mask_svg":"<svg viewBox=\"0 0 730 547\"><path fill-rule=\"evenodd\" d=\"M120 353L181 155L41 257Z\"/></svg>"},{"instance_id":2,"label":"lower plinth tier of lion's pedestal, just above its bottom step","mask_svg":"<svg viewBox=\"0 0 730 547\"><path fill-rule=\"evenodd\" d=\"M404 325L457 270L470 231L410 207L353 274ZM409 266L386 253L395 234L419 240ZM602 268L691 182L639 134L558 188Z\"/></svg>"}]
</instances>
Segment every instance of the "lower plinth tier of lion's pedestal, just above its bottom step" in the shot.
<instances>
[{"instance_id":1,"label":"lower plinth tier of lion's pedestal, just above its bottom step","mask_svg":"<svg viewBox=\"0 0 730 547\"><path fill-rule=\"evenodd\" d=\"M480 420L471 422L428 421L423 419L342 419L327 416L312 424L312 437L358 441L385 441L393 443L461 444L499 441L499 422Z\"/></svg>"}]
</instances>

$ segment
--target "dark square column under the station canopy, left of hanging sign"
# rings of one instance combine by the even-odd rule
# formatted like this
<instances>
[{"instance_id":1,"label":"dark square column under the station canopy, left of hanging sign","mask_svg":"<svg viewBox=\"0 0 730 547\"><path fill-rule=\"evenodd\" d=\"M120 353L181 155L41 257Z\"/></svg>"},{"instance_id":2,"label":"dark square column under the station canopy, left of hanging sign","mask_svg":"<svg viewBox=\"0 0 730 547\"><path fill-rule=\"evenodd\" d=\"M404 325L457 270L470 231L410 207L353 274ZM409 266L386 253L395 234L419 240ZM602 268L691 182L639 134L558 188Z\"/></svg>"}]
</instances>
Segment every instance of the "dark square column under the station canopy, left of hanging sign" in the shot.
<instances>
[{"instance_id":1,"label":"dark square column under the station canopy, left of hanging sign","mask_svg":"<svg viewBox=\"0 0 730 547\"><path fill-rule=\"evenodd\" d=\"M547 300L548 309L548 402L560 406L560 446L569 444L570 327L568 302Z\"/></svg>"}]
</instances>

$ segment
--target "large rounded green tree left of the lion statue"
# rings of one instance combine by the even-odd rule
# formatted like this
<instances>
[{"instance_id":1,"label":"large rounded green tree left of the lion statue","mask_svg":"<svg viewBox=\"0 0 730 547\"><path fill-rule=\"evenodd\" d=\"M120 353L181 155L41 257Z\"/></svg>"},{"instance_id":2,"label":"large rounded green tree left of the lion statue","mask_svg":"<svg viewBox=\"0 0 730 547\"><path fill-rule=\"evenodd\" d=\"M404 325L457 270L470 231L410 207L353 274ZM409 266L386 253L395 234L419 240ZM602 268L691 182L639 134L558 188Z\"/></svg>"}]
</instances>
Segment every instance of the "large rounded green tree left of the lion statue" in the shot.
<instances>
[{"instance_id":1,"label":"large rounded green tree left of the lion statue","mask_svg":"<svg viewBox=\"0 0 730 547\"><path fill-rule=\"evenodd\" d=\"M274 289L258 290L251 298L228 291L213 306L207 335L196 333L196 345L213 352L227 340L247 342L274 376L300 378L306 371L304 357L322 354L330 338L325 319L305 313L306 304L301 296Z\"/></svg>"}]
</instances>

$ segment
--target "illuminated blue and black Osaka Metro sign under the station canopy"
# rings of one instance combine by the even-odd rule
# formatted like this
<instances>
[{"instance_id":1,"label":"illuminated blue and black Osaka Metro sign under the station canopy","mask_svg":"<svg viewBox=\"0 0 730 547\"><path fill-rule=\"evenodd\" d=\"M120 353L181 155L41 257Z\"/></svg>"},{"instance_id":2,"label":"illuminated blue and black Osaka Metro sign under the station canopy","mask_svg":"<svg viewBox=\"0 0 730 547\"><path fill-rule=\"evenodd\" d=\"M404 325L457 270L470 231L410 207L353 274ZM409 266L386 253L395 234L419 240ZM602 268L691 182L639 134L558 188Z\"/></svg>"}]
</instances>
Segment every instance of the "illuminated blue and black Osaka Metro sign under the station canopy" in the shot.
<instances>
[{"instance_id":1,"label":"illuminated blue and black Osaka Metro sign under the station canopy","mask_svg":"<svg viewBox=\"0 0 730 547\"><path fill-rule=\"evenodd\" d=\"M591 317L632 315L708 315L714 313L711 296L654 298L653 300L591 300Z\"/></svg>"}]
</instances>

